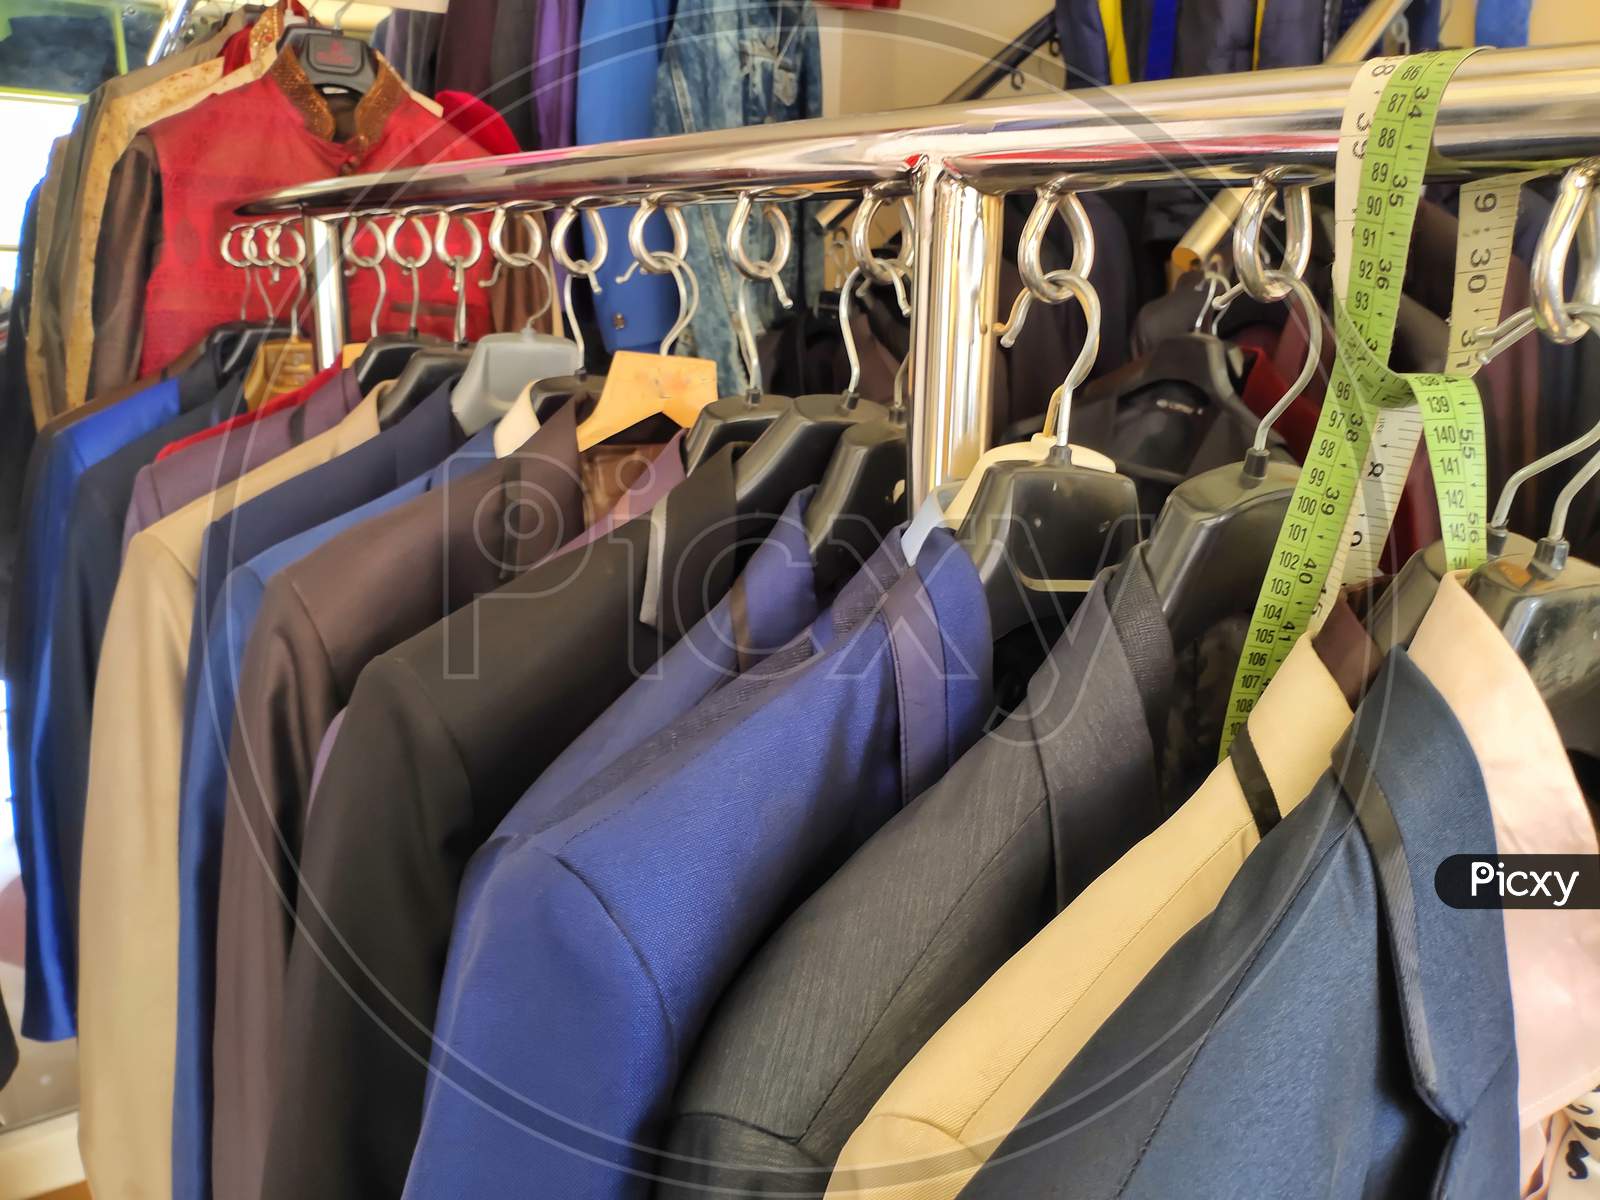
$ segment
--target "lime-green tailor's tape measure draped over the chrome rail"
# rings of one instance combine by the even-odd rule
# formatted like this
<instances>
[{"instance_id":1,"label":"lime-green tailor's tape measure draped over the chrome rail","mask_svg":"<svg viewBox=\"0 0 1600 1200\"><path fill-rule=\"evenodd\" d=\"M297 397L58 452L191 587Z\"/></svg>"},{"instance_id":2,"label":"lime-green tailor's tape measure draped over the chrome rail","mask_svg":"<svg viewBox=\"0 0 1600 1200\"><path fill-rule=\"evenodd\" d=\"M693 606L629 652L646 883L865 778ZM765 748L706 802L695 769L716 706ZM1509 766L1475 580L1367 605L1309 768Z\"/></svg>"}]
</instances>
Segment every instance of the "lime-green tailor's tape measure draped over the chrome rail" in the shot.
<instances>
[{"instance_id":1,"label":"lime-green tailor's tape measure draped over the chrome rail","mask_svg":"<svg viewBox=\"0 0 1600 1200\"><path fill-rule=\"evenodd\" d=\"M1336 560L1347 554L1346 522L1381 411L1414 405L1427 434L1450 566L1483 560L1488 483L1477 387L1470 379L1443 374L1400 376L1387 366L1438 102L1469 53L1381 61L1362 74L1368 86L1382 80L1382 91L1370 117L1362 120L1358 114L1350 122L1362 141L1349 155L1341 144L1341 166L1347 158L1360 163L1360 187L1354 219L1336 235L1338 251L1347 250L1334 264L1338 358L1234 677L1222 755L1294 642L1312 627L1323 589L1334 592L1342 581ZM1362 83L1354 94L1360 106ZM1344 294L1338 291L1341 283ZM1400 483L1408 466L1410 454L1395 472Z\"/></svg>"}]
</instances>

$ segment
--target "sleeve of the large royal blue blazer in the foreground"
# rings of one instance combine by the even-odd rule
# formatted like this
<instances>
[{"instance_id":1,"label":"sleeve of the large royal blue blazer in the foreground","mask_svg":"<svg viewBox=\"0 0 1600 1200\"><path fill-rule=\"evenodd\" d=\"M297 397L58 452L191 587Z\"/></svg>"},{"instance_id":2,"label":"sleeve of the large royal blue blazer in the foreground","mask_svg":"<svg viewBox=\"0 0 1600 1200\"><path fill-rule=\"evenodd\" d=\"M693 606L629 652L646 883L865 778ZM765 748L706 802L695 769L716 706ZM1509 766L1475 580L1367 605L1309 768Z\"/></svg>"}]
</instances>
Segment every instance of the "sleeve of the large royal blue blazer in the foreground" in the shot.
<instances>
[{"instance_id":1,"label":"sleeve of the large royal blue blazer in the foreground","mask_svg":"<svg viewBox=\"0 0 1600 1200\"><path fill-rule=\"evenodd\" d=\"M642 1190L674 1040L632 939L531 840L480 851L459 912L405 1200Z\"/></svg>"}]
</instances>

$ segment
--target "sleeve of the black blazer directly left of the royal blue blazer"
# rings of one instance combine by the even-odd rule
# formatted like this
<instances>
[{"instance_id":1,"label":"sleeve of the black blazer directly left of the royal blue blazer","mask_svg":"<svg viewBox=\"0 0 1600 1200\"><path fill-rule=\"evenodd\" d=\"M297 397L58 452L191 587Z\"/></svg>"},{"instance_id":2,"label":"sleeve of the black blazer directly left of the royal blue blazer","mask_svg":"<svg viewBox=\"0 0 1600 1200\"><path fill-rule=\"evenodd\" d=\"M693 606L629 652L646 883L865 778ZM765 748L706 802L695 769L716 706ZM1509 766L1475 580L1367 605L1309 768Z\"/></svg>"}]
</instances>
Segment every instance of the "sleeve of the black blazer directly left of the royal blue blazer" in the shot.
<instances>
[{"instance_id":1,"label":"sleeve of the black blazer directly left of the royal blue blazer","mask_svg":"<svg viewBox=\"0 0 1600 1200\"><path fill-rule=\"evenodd\" d=\"M374 659L306 827L285 979L294 1037L262 1197L400 1194L472 830L467 770L443 717L397 654Z\"/></svg>"}]
</instances>

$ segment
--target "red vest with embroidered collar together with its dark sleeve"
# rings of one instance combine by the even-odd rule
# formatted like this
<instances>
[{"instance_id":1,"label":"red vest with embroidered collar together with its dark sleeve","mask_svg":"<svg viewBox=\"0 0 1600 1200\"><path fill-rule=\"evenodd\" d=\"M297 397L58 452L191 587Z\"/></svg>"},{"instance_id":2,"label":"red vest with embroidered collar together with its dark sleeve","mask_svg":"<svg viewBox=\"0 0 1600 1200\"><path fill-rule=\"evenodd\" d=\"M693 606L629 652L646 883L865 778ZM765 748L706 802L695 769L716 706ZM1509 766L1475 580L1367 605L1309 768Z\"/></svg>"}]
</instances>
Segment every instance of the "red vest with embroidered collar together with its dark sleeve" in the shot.
<instances>
[{"instance_id":1,"label":"red vest with embroidered collar together with its dark sleeve","mask_svg":"<svg viewBox=\"0 0 1600 1200\"><path fill-rule=\"evenodd\" d=\"M344 125L350 136L334 141ZM250 136L218 136L250 130ZM206 330L238 314L245 272L218 254L242 195L339 173L378 171L482 155L470 139L413 101L379 61L354 109L334 112L310 86L294 53L280 53L259 80L152 125L133 141L110 181L94 285L93 387L160 366ZM176 173L176 174L174 174ZM171 181L181 186L171 186ZM165 182L163 182L165 181ZM392 266L392 264L390 264ZM390 325L410 314L410 278L389 272ZM488 331L488 267L467 272L467 333ZM448 270L421 272L421 328L453 336ZM262 282L264 283L264 282ZM256 286L256 283L250 283ZM298 293L296 272L267 286L274 310ZM373 272L347 282L352 328L366 328L378 291Z\"/></svg>"}]
</instances>

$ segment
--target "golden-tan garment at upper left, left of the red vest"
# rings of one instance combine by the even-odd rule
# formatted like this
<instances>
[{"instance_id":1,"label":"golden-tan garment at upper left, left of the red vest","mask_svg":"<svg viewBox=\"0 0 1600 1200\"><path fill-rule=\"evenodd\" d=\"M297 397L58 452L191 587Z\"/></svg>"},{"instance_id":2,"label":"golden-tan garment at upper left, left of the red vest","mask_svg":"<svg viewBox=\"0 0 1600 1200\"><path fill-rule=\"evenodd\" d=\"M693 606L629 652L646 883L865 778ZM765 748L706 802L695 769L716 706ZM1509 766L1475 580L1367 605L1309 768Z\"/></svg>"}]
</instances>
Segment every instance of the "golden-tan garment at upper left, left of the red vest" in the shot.
<instances>
[{"instance_id":1,"label":"golden-tan garment at upper left, left of the red vest","mask_svg":"<svg viewBox=\"0 0 1600 1200\"><path fill-rule=\"evenodd\" d=\"M99 246L112 168L147 126L192 109L208 96L219 96L261 78L277 58L282 29L280 10L269 8L250 30L251 58L238 70L224 75L221 58L206 59L106 104L99 125L94 126L94 144L85 160L83 186L78 192L82 208L72 218L77 232L69 240L67 261L62 264L67 408L77 408L90 400L90 363L94 358L94 251Z\"/></svg>"}]
</instances>

